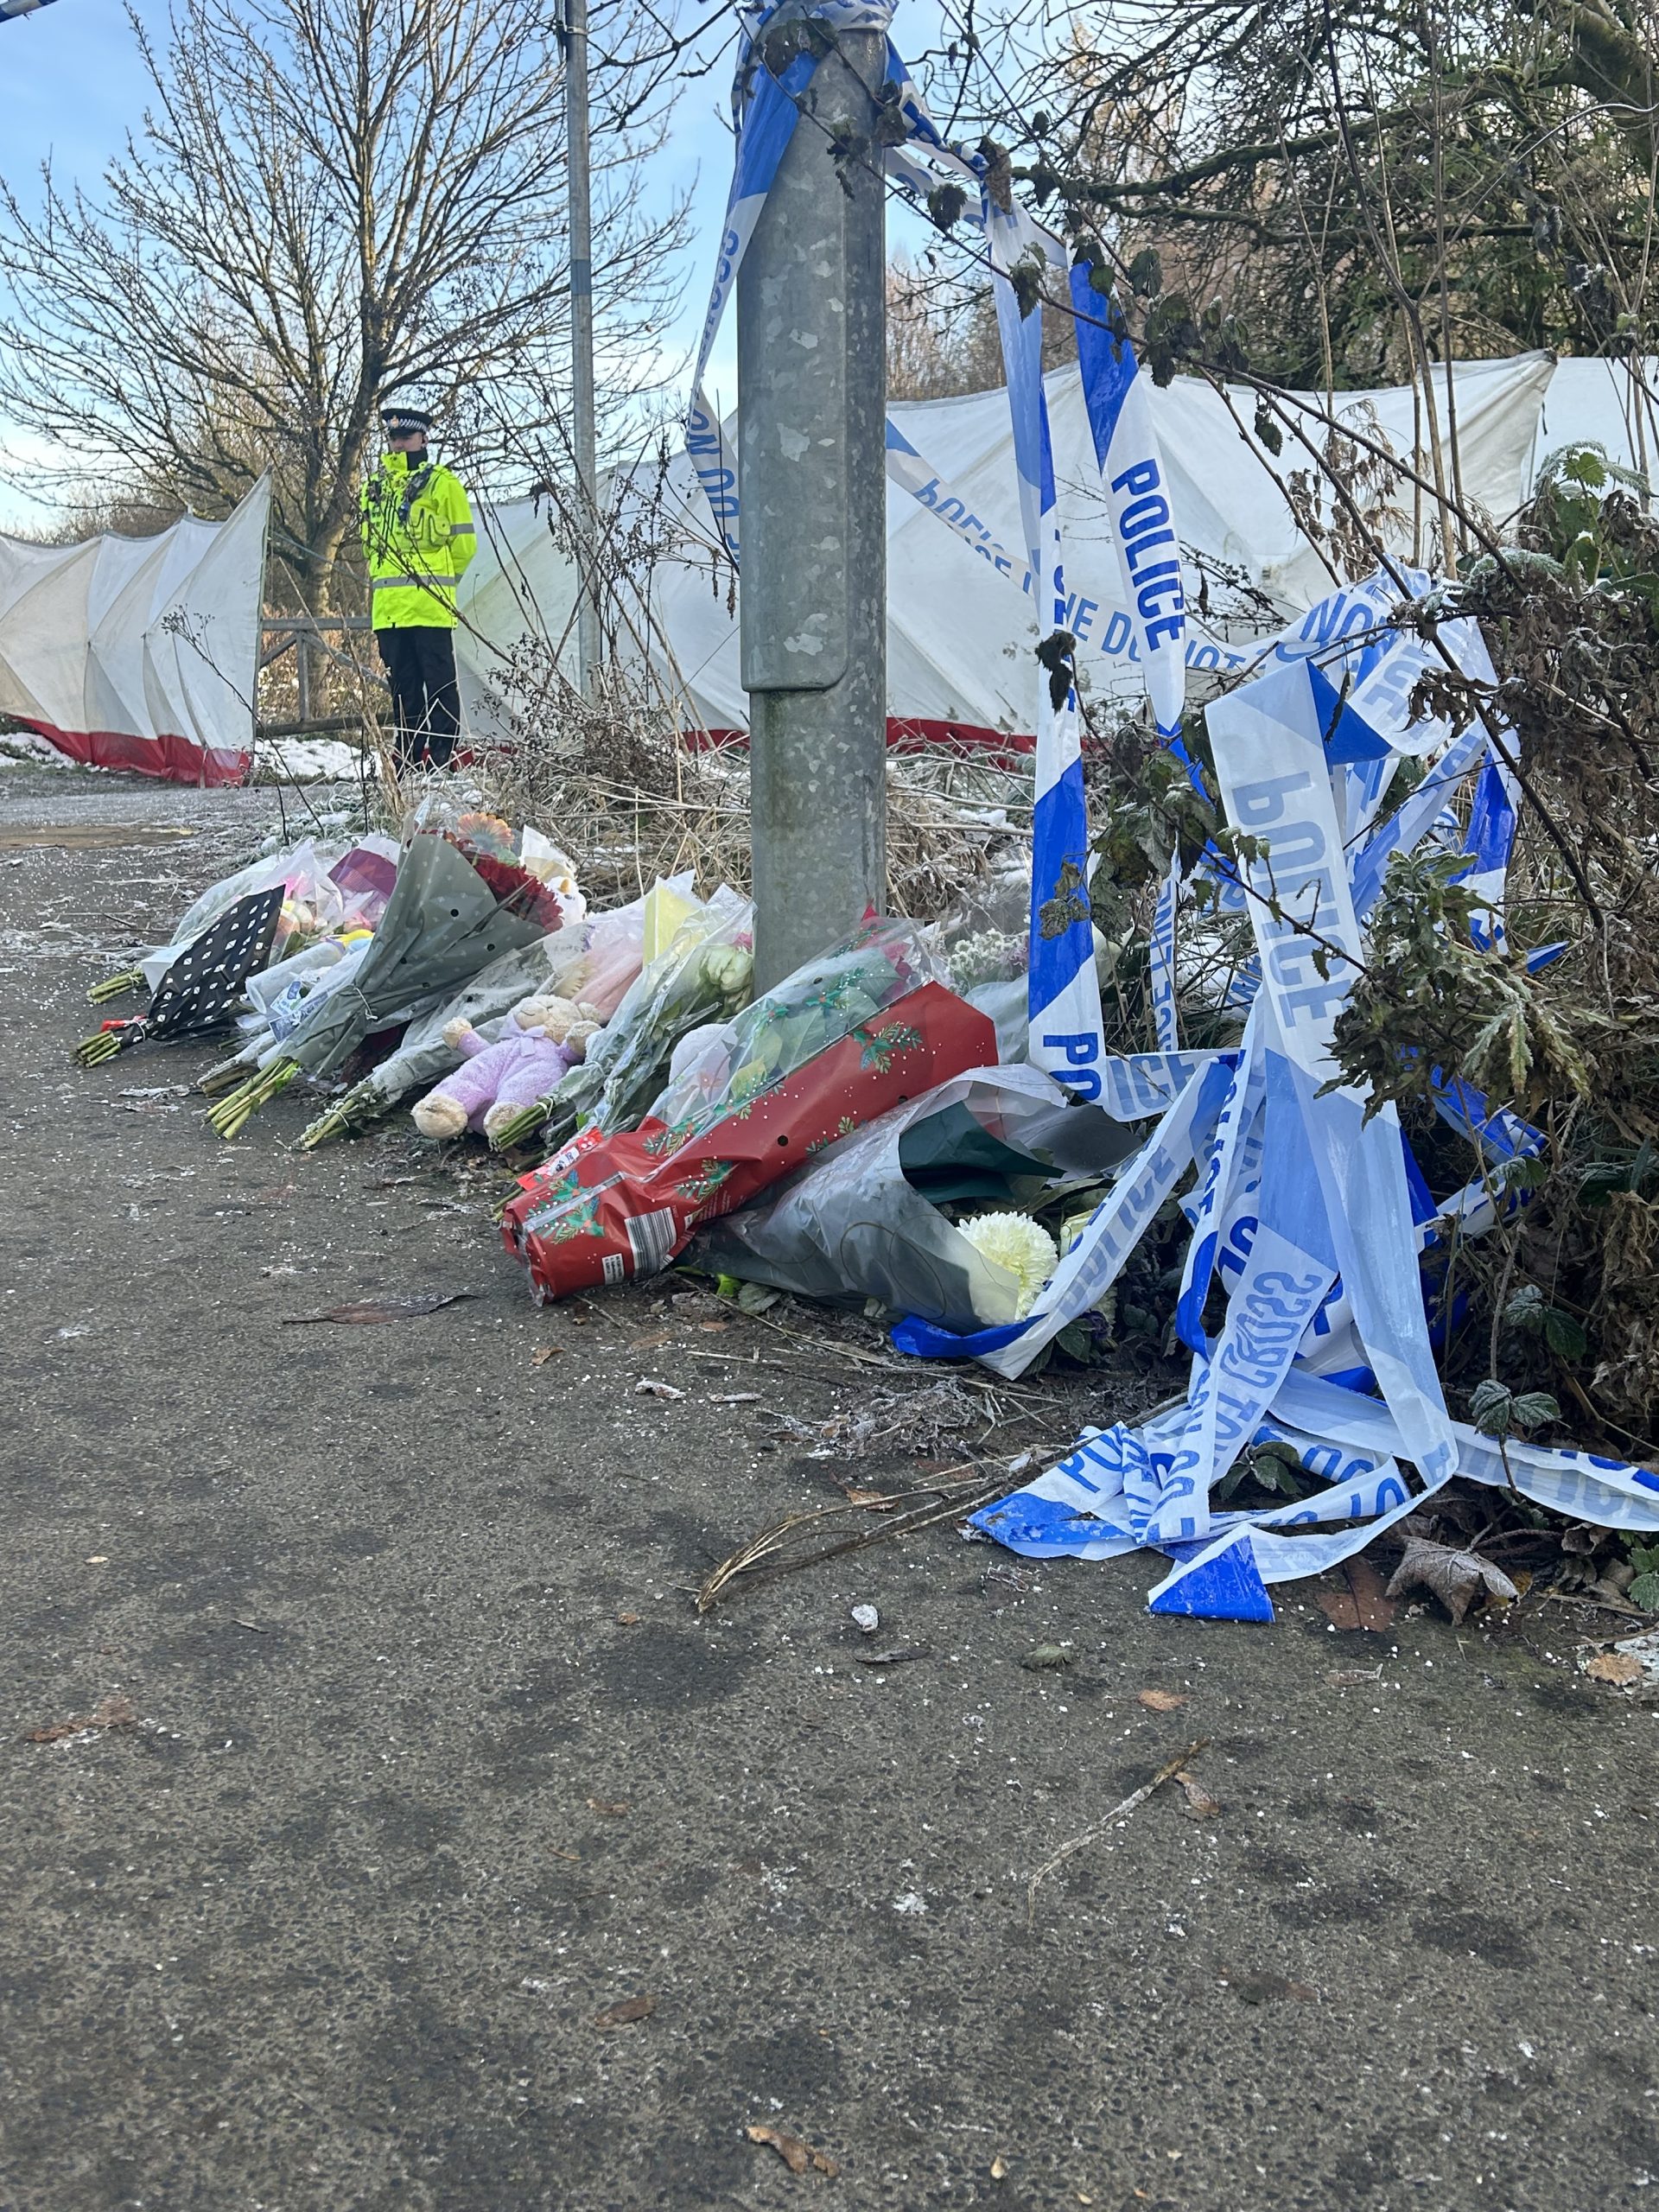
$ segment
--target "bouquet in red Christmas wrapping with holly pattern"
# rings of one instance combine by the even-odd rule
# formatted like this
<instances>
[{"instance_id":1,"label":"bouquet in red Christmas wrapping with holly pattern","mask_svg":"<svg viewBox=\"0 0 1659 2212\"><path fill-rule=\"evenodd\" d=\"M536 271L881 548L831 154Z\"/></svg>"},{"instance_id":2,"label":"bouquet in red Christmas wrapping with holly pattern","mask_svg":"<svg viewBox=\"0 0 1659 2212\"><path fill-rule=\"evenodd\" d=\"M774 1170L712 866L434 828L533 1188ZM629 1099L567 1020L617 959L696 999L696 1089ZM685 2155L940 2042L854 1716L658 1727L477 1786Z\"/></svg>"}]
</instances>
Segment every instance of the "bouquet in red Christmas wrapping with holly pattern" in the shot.
<instances>
[{"instance_id":1,"label":"bouquet in red Christmas wrapping with holly pattern","mask_svg":"<svg viewBox=\"0 0 1659 2212\"><path fill-rule=\"evenodd\" d=\"M995 1062L995 1029L931 975L909 922L876 922L708 1040L633 1133L584 1128L502 1214L540 1298L666 1267L814 1152Z\"/></svg>"}]
</instances>

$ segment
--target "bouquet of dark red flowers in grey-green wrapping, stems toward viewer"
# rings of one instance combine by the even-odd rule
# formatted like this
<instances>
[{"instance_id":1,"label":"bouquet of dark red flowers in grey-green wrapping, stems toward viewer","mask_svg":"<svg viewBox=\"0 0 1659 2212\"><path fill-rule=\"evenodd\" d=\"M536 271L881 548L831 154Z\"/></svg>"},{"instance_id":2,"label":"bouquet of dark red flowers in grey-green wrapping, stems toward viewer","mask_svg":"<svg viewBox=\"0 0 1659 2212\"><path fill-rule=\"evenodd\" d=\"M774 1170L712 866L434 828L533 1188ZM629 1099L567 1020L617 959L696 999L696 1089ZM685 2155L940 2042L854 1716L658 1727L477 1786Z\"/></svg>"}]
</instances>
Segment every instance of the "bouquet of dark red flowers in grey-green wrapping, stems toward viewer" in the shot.
<instances>
[{"instance_id":1,"label":"bouquet of dark red flowers in grey-green wrapping, stems toward viewer","mask_svg":"<svg viewBox=\"0 0 1659 2212\"><path fill-rule=\"evenodd\" d=\"M376 1029L431 1011L502 953L522 951L560 925L557 896L518 863L511 832L493 816L462 816L453 827L422 821L403 847L380 927L354 958L332 971L305 1004L296 1026L259 1055L259 1066L210 1110L219 1137L234 1137L248 1117L296 1075L330 1075Z\"/></svg>"}]
</instances>

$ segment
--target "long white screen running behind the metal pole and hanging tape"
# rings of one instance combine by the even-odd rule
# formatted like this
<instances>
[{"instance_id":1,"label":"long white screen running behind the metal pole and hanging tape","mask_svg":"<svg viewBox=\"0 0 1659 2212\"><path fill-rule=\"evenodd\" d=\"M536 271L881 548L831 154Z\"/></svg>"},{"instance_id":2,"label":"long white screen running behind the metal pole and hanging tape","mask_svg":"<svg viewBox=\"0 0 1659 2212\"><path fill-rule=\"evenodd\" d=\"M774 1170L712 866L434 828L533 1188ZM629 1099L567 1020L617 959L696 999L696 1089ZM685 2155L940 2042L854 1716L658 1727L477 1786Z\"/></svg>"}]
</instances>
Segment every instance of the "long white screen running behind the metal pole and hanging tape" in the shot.
<instances>
[{"instance_id":1,"label":"long white screen running behind the metal pole and hanging tape","mask_svg":"<svg viewBox=\"0 0 1659 2212\"><path fill-rule=\"evenodd\" d=\"M1597 363L1584 363L1595 367ZM1451 487L1451 422L1464 498L1495 522L1524 502L1540 438L1540 411L1555 369L1551 354L1471 361L1436 378L1440 471ZM1555 369L1559 374L1559 369ZM1082 675L1097 692L1130 692L1137 675L1124 659L1128 622L1117 622L1117 553L1099 493L1082 380L1075 367L1046 378L1055 447L1071 628L1082 644ZM1325 400L1303 394L1298 416L1323 447ZM1208 635L1239 644L1276 628L1332 588L1332 571L1307 538L1281 487L1290 469L1312 469L1307 449L1285 438L1274 458L1256 440L1254 394L1225 396L1197 378L1152 389L1166 473L1181 538L1197 566L1188 571L1188 608L1199 637L1201 604ZM1436 465L1422 394L1411 387L1336 394L1338 422L1378 440L1433 484ZM1013 429L1002 389L891 407L894 422L938 473L938 500L958 500L964 515L1011 553L1022 544L1013 469ZM728 440L734 442L728 425ZM657 469L639 469L613 493L628 518L650 504ZM1438 544L1409 478L1394 480L1380 535L1402 560L1438 564ZM661 690L681 701L686 728L737 732L748 726L739 681L737 615L728 604L728 568L710 555L712 522L690 462L670 462L664 487L670 553L639 580L639 599L624 613L633 639L624 650L650 659ZM549 529L544 509L522 500L487 509L480 553L462 584L462 695L469 726L500 730L502 657L520 639L542 637L568 648L575 577ZM1018 562L1015 562L1018 566ZM1000 575L958 531L945 526L900 487L887 487L887 714L894 739L995 739L1033 726L1037 624L1020 586ZM1230 613L1232 611L1232 613ZM1223 646L1199 646L1199 666L1219 666ZM566 664L568 666L568 664Z\"/></svg>"}]
</instances>

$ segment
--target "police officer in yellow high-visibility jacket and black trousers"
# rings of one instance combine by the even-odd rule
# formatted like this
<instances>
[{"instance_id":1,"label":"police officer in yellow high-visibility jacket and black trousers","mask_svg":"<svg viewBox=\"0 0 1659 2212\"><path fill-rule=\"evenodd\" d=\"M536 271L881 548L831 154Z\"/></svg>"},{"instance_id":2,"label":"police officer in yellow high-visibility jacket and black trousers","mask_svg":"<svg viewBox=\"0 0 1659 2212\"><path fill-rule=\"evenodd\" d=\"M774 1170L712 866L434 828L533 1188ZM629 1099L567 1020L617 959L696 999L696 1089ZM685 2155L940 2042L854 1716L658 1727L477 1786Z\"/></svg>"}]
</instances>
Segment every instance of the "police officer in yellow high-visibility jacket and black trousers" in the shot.
<instances>
[{"instance_id":1,"label":"police officer in yellow high-visibility jacket and black trousers","mask_svg":"<svg viewBox=\"0 0 1659 2212\"><path fill-rule=\"evenodd\" d=\"M456 584L476 551L460 478L431 460L422 407L383 407L387 456L363 487L374 639L392 686L398 768L447 768L460 730Z\"/></svg>"}]
</instances>

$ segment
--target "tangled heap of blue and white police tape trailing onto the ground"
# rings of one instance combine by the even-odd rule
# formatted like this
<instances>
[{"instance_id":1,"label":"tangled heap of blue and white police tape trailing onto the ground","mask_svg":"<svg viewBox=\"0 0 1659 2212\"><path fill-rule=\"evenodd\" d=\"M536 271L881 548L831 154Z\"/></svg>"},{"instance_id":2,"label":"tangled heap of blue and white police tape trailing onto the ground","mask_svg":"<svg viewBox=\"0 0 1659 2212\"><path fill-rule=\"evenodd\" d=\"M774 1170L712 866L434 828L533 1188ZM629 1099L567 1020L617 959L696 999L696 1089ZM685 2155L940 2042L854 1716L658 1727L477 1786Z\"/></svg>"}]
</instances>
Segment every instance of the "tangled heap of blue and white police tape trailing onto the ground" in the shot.
<instances>
[{"instance_id":1,"label":"tangled heap of blue and white police tape trailing onto the ground","mask_svg":"<svg viewBox=\"0 0 1659 2212\"><path fill-rule=\"evenodd\" d=\"M1391 1108L1367 1117L1365 1097L1338 1079L1332 1026L1365 956L1358 885L1374 896L1380 856L1413 849L1471 776L1480 792L1491 757L1484 730L1451 737L1425 776L1438 792L1413 792L1349 858L1340 805L1363 763L1329 757L1314 675L1307 655L1270 659L1208 714L1223 812L1256 841L1239 880L1261 987L1239 1048L1106 1064L1104 1099L1159 1121L1026 1323L980 1338L918 1323L894 1332L914 1352L971 1352L998 1374L1024 1371L1117 1279L1157 1206L1197 1168L1181 1201L1183 1400L1139 1427L1086 1431L973 1522L1037 1557L1159 1548L1172 1566L1148 1601L1166 1613L1265 1619L1272 1584L1338 1564L1458 1473L1604 1526L1659 1528L1652 1471L1500 1444L1447 1413L1425 1261L1524 1203L1506 1170L1542 1137L1467 1084L1440 1082L1442 1119L1484 1166L1433 1201ZM1491 787L1484 805L1502 816ZM1478 823L1464 847L1495 874L1511 836L1502 818ZM1225 1307L1212 1340L1203 1321L1217 1285ZM1325 1486L1294 1504L1217 1511L1239 1453L1263 1442L1290 1444Z\"/></svg>"}]
</instances>

